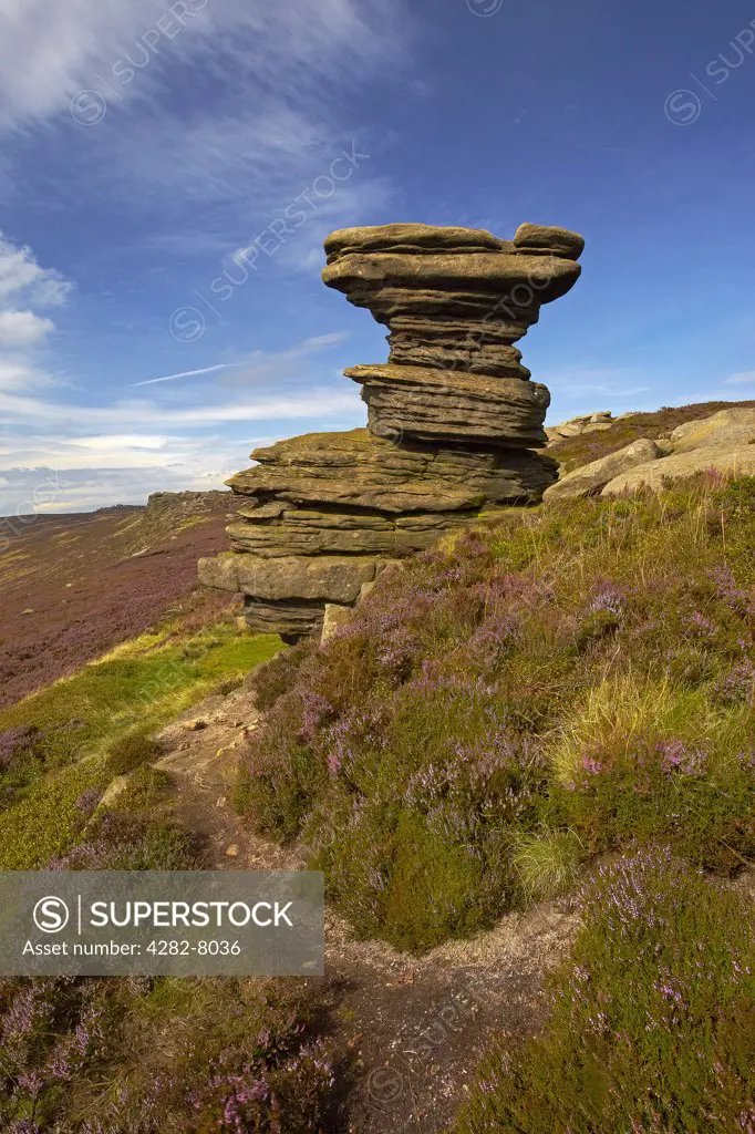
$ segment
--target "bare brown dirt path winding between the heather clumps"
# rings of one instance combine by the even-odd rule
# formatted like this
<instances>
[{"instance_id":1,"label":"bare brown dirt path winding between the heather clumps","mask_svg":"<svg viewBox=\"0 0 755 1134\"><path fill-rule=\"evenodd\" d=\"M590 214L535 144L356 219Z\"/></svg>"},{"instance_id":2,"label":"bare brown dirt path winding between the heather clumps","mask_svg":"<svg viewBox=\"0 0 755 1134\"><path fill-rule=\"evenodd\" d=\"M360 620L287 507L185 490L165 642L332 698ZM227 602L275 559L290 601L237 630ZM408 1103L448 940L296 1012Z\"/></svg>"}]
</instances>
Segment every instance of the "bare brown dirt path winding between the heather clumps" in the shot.
<instances>
[{"instance_id":1,"label":"bare brown dirt path winding between the heather clumps","mask_svg":"<svg viewBox=\"0 0 755 1134\"><path fill-rule=\"evenodd\" d=\"M207 699L158 736L168 750L158 767L173 776L176 816L203 838L209 870L305 865L296 848L260 839L234 812L239 748L256 720L252 693L239 688ZM337 1050L351 1066L332 1134L440 1134L491 1035L538 1026L543 975L576 924L566 905L543 904L417 958L355 940L328 911L324 981L336 1004Z\"/></svg>"}]
</instances>

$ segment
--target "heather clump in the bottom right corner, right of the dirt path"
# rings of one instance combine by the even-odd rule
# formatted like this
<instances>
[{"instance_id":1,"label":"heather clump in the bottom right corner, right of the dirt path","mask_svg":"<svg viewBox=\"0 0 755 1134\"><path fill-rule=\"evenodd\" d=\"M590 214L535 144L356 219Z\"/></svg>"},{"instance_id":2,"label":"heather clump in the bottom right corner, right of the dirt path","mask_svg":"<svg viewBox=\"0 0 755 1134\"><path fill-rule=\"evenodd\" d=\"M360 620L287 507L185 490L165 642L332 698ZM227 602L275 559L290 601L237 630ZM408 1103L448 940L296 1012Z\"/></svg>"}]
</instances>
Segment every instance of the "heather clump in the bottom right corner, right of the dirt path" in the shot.
<instances>
[{"instance_id":1,"label":"heather clump in the bottom right corner, right of the dirt path","mask_svg":"<svg viewBox=\"0 0 755 1134\"><path fill-rule=\"evenodd\" d=\"M752 903L668 849L604 864L550 1018L481 1066L456 1134L755 1129Z\"/></svg>"}]
</instances>

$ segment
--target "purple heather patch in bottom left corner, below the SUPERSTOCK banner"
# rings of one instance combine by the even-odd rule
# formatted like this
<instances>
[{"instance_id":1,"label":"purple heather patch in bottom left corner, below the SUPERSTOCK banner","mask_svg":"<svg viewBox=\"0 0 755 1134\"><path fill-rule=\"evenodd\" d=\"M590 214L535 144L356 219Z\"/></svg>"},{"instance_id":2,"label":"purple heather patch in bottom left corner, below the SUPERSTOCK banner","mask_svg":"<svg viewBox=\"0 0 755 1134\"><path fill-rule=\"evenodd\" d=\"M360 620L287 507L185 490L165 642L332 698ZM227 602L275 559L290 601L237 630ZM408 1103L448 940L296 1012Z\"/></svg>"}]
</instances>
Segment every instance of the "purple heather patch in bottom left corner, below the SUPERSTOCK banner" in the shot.
<instances>
[{"instance_id":1,"label":"purple heather patch in bottom left corner, below the SUPERSTOCK banner","mask_svg":"<svg viewBox=\"0 0 755 1134\"><path fill-rule=\"evenodd\" d=\"M9 1134L311 1134L333 1082L306 981L0 978Z\"/></svg>"}]
</instances>

